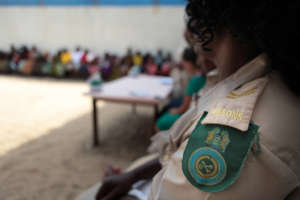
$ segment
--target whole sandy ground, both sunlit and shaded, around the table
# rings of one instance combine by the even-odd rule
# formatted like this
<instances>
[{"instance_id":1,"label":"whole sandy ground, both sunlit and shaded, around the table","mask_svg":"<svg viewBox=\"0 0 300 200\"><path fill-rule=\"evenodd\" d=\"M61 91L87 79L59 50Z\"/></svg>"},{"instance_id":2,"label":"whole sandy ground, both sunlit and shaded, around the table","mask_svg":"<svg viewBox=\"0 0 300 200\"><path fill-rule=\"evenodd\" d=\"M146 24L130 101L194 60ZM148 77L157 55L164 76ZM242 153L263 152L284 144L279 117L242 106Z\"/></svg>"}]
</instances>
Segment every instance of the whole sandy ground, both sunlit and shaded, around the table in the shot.
<instances>
[{"instance_id":1,"label":"whole sandy ground, both sunlit and shaded, around the table","mask_svg":"<svg viewBox=\"0 0 300 200\"><path fill-rule=\"evenodd\" d=\"M85 82L0 75L0 199L72 200L109 165L126 168L149 145L153 110L99 102L91 141ZM134 148L133 148L134 147Z\"/></svg>"}]
</instances>

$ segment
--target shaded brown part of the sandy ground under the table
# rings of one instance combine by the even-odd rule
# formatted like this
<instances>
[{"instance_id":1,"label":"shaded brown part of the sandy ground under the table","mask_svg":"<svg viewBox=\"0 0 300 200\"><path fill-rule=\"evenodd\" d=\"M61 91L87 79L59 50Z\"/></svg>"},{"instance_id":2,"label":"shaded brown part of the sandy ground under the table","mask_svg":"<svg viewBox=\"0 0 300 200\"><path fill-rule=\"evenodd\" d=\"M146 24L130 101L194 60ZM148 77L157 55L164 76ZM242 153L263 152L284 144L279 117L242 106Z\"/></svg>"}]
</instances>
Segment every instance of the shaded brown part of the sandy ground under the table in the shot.
<instances>
[{"instance_id":1,"label":"shaded brown part of the sandy ground under the table","mask_svg":"<svg viewBox=\"0 0 300 200\"><path fill-rule=\"evenodd\" d=\"M101 145L96 149L86 148L92 120L85 113L0 157L1 199L72 200L101 180L108 165L124 169L146 154L151 109L138 107L134 115L130 106L108 104L99 110Z\"/></svg>"}]
</instances>

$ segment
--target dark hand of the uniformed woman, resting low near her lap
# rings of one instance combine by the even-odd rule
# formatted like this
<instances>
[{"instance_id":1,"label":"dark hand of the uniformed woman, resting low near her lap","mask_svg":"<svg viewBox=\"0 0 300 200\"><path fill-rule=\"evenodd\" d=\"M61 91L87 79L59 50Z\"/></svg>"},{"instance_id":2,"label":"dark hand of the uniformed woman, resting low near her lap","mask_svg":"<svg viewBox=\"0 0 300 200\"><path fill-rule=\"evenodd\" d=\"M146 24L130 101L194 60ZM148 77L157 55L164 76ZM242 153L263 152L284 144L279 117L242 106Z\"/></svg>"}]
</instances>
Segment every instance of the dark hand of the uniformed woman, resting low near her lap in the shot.
<instances>
[{"instance_id":1,"label":"dark hand of the uniformed woman, resting low near her lap","mask_svg":"<svg viewBox=\"0 0 300 200\"><path fill-rule=\"evenodd\" d=\"M96 200L113 200L126 195L134 183L129 174L120 174L106 177L99 189Z\"/></svg>"}]
</instances>

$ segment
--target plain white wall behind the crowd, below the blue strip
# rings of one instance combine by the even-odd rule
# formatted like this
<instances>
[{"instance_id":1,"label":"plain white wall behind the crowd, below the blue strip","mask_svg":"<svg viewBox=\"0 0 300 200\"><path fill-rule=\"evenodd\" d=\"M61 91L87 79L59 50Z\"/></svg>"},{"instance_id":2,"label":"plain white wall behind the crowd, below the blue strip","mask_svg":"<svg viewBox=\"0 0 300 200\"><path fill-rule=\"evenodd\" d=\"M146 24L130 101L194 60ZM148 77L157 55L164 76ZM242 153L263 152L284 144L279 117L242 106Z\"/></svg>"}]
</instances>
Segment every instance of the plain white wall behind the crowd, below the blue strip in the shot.
<instances>
[{"instance_id":1,"label":"plain white wall behind the crowd, below the blue strip","mask_svg":"<svg viewBox=\"0 0 300 200\"><path fill-rule=\"evenodd\" d=\"M184 7L0 7L0 48L36 44L55 51L127 47L176 53L183 46Z\"/></svg>"}]
</instances>

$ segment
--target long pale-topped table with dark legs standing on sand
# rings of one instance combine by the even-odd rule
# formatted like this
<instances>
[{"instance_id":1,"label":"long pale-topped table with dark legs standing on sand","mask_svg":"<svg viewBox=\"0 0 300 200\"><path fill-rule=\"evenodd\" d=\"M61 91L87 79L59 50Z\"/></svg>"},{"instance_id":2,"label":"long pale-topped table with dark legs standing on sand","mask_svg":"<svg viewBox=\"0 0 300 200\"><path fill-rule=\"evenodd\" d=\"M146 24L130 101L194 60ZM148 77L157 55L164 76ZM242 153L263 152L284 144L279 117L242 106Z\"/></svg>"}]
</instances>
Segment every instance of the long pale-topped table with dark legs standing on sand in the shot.
<instances>
[{"instance_id":1,"label":"long pale-topped table with dark legs standing on sand","mask_svg":"<svg viewBox=\"0 0 300 200\"><path fill-rule=\"evenodd\" d=\"M99 146L97 101L146 105L154 108L154 119L159 112L159 104L167 100L173 89L172 79L161 76L126 76L104 83L100 91L90 91L85 95L92 98L93 146ZM154 120L155 123L155 120Z\"/></svg>"}]
</instances>

